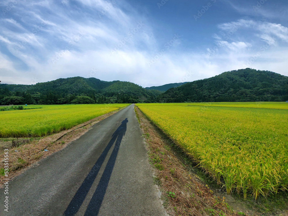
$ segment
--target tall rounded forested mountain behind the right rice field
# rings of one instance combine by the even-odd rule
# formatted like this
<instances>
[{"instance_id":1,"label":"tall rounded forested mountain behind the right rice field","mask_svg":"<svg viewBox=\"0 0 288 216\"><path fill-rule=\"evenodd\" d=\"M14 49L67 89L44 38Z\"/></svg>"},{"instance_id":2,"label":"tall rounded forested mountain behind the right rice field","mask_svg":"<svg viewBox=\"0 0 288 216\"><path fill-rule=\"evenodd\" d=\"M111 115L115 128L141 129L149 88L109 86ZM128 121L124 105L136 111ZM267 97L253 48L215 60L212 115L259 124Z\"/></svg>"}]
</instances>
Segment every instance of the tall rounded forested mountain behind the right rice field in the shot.
<instances>
[{"instance_id":1,"label":"tall rounded forested mountain behind the right rice field","mask_svg":"<svg viewBox=\"0 0 288 216\"><path fill-rule=\"evenodd\" d=\"M157 98L161 103L287 100L287 76L250 68L228 71L209 79L189 82L171 88Z\"/></svg>"}]
</instances>

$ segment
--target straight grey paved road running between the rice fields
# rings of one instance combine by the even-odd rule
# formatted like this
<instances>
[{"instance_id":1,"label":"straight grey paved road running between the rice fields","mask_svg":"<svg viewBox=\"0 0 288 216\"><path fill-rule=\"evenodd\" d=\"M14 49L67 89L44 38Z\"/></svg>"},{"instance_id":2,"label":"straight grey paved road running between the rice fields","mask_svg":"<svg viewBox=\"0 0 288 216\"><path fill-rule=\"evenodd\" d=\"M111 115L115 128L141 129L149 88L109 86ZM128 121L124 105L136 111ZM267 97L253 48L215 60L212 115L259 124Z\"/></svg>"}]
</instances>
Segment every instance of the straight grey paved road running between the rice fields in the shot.
<instances>
[{"instance_id":1,"label":"straight grey paved road running between the rice fields","mask_svg":"<svg viewBox=\"0 0 288 216\"><path fill-rule=\"evenodd\" d=\"M9 183L0 215L166 215L134 105L95 124Z\"/></svg>"}]
</instances>

